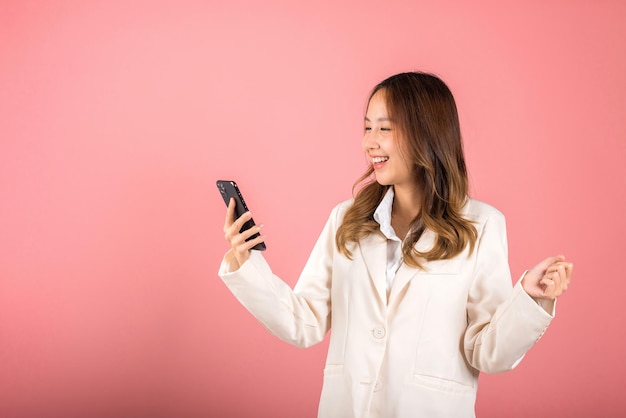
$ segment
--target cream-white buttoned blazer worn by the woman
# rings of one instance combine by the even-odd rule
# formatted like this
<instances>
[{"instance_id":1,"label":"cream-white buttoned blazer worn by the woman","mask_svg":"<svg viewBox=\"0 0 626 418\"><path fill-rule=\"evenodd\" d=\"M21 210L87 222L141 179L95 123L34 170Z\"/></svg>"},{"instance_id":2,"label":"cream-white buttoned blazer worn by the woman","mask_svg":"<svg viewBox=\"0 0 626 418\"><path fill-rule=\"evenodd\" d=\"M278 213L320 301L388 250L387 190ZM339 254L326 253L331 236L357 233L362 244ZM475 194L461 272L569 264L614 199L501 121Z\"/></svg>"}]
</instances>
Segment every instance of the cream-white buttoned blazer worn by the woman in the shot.
<instances>
[{"instance_id":1,"label":"cream-white buttoned blazer worn by the woman","mask_svg":"<svg viewBox=\"0 0 626 418\"><path fill-rule=\"evenodd\" d=\"M260 252L219 274L274 335L298 347L332 328L320 418L474 417L479 371L513 369L552 319L512 287L505 219L468 200L478 241L423 270L403 264L387 296L387 240L372 234L341 255L335 232L352 201L336 206L292 290ZM434 234L417 243L430 248Z\"/></svg>"}]
</instances>

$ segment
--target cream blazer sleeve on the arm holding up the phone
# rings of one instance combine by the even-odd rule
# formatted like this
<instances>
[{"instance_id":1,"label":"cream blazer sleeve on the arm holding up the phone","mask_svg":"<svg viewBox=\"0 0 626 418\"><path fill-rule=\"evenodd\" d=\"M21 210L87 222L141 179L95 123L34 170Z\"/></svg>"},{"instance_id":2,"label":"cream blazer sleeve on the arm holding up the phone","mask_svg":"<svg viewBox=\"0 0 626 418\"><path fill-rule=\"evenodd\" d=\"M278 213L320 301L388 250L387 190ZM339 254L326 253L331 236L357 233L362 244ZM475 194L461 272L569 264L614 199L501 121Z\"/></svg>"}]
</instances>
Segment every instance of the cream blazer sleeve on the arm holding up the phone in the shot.
<instances>
[{"instance_id":1,"label":"cream blazer sleeve on the arm holding up the phone","mask_svg":"<svg viewBox=\"0 0 626 418\"><path fill-rule=\"evenodd\" d=\"M330 329L332 260L339 207L320 234L294 289L276 276L258 251L234 272L222 260L219 276L235 297L272 334L305 348Z\"/></svg>"}]
</instances>

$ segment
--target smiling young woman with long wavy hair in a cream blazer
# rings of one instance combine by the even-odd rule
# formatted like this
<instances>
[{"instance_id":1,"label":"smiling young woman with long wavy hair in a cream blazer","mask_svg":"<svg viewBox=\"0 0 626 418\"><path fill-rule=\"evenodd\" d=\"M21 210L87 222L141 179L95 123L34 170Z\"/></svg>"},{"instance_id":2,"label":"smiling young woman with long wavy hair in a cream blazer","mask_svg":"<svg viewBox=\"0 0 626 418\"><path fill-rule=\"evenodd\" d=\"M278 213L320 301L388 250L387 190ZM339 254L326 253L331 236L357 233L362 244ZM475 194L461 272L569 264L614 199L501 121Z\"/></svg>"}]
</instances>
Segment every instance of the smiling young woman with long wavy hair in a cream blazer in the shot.
<instances>
[{"instance_id":1,"label":"smiling young woman with long wavy hair in a cream blazer","mask_svg":"<svg viewBox=\"0 0 626 418\"><path fill-rule=\"evenodd\" d=\"M513 369L539 340L573 266L550 257L512 287L505 219L468 197L454 98L437 77L394 75L365 115L371 161L336 206L294 289L239 233L219 274L274 335L308 347L332 328L319 417L473 417L479 372ZM362 183L365 183L364 185Z\"/></svg>"}]
</instances>

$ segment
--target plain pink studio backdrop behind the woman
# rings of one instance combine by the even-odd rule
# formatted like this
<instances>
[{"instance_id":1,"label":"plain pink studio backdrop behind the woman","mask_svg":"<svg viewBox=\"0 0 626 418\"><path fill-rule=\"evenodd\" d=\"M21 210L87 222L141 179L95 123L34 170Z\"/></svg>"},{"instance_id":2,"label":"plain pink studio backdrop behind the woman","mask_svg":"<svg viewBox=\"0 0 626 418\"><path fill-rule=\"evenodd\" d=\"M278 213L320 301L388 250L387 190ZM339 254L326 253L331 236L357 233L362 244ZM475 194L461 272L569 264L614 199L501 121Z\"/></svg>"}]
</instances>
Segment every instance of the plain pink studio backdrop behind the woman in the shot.
<instances>
[{"instance_id":1,"label":"plain pink studio backdrop behind the woman","mask_svg":"<svg viewBox=\"0 0 626 418\"><path fill-rule=\"evenodd\" d=\"M222 284L214 183L294 284L365 167L367 93L414 69L457 98L513 275L576 264L478 415L626 413L624 39L618 0L3 2L0 416L315 416L326 344L280 342Z\"/></svg>"}]
</instances>

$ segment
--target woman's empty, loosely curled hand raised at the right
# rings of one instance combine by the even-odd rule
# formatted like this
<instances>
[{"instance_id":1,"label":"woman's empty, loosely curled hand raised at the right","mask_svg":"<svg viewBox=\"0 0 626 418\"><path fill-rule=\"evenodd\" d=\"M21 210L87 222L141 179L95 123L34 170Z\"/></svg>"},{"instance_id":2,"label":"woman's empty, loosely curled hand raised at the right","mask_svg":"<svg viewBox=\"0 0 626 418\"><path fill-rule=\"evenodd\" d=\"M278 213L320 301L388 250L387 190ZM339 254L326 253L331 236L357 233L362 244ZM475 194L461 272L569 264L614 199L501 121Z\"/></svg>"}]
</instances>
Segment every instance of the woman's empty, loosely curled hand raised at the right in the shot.
<instances>
[{"instance_id":1,"label":"woman's empty, loosely curled hand raised at the right","mask_svg":"<svg viewBox=\"0 0 626 418\"><path fill-rule=\"evenodd\" d=\"M562 255L546 258L528 270L522 287L533 298L554 300L567 290L573 269L574 265Z\"/></svg>"}]
</instances>

